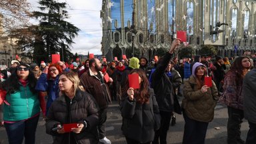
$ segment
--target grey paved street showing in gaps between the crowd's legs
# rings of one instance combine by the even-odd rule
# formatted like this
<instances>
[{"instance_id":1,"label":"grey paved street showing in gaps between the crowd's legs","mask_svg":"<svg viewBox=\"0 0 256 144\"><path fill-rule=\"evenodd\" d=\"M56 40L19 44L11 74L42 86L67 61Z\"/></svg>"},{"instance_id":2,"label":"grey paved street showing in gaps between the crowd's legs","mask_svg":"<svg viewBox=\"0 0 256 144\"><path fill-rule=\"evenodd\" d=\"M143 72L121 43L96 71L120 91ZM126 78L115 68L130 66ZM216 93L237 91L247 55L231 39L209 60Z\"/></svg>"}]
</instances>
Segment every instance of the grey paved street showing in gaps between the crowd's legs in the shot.
<instances>
[{"instance_id":1,"label":"grey paved street showing in gaps between the crowd's legs","mask_svg":"<svg viewBox=\"0 0 256 144\"><path fill-rule=\"evenodd\" d=\"M183 127L184 121L181 115L177 116L177 124L174 127L169 127L168 133L168 143L171 144L180 144L182 143L183 137ZM121 133L121 113L119 112L119 106L117 102L113 102L112 105L109 106L109 113L107 119L107 138L109 138L113 144L125 144L125 138ZM227 107L225 105L218 104L215 108L215 119L211 123L209 123L207 136L206 136L206 144L225 144L226 143L226 129L227 123ZM219 127L220 129L215 129L215 127ZM241 135L242 139L246 138L248 131L247 121L244 121L241 127ZM0 128L0 141L1 144L7 144L7 135L5 133L5 129L3 127ZM52 143L52 138L50 135L45 133L44 121L42 118L39 121L37 127L37 142L36 143Z\"/></svg>"}]
</instances>

